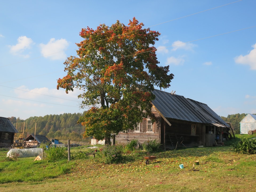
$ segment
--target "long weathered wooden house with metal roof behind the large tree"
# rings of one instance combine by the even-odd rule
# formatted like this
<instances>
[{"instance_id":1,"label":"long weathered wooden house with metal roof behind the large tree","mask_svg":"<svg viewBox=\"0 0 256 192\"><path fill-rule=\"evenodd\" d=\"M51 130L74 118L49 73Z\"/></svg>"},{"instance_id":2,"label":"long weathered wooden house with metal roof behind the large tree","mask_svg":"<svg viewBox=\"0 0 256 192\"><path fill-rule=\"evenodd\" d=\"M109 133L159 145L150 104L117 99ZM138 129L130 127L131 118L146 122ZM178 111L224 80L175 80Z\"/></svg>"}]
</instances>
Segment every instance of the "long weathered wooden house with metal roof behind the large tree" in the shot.
<instances>
[{"instance_id":1,"label":"long weathered wooden house with metal roof behind the large tree","mask_svg":"<svg viewBox=\"0 0 256 192\"><path fill-rule=\"evenodd\" d=\"M232 137L230 125L206 104L181 95L154 90L152 113L156 121L144 118L128 133L116 135L116 143L138 139L158 140L167 149L176 146L213 146Z\"/></svg>"}]
</instances>

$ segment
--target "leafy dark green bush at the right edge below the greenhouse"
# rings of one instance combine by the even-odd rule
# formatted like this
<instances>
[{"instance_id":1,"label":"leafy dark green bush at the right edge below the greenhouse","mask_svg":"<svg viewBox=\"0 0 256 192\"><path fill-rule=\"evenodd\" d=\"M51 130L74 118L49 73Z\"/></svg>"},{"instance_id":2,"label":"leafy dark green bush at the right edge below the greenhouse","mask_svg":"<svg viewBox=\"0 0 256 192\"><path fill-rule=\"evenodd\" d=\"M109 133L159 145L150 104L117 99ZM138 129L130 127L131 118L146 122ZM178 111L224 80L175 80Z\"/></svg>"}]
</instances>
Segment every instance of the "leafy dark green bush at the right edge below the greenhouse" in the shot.
<instances>
[{"instance_id":1,"label":"leafy dark green bush at the right edge below the greenhouse","mask_svg":"<svg viewBox=\"0 0 256 192\"><path fill-rule=\"evenodd\" d=\"M233 146L235 152L256 154L256 139L243 138Z\"/></svg>"}]
</instances>

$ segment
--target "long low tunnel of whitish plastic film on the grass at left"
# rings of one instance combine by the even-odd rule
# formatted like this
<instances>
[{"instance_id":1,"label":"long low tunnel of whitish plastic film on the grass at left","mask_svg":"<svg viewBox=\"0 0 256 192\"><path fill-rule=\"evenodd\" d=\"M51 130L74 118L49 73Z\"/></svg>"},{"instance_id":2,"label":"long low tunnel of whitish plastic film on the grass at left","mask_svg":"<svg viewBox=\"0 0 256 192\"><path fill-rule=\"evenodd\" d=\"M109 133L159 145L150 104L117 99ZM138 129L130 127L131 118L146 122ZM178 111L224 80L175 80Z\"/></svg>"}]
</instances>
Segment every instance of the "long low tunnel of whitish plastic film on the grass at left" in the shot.
<instances>
[{"instance_id":1,"label":"long low tunnel of whitish plastic film on the grass at left","mask_svg":"<svg viewBox=\"0 0 256 192\"><path fill-rule=\"evenodd\" d=\"M32 148L32 149L10 149L6 157L11 157L13 153L18 153L18 157L37 157L43 153L42 148Z\"/></svg>"}]
</instances>

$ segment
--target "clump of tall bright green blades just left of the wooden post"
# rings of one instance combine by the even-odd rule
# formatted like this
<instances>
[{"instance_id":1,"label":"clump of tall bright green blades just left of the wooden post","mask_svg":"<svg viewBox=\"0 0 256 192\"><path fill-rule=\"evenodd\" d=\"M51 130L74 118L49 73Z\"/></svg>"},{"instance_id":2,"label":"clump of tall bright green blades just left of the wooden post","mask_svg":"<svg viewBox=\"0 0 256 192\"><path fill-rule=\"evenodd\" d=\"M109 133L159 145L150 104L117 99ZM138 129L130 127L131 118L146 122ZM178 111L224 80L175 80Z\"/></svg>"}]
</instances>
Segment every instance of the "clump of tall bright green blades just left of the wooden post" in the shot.
<instances>
[{"instance_id":1,"label":"clump of tall bright green blades just left of the wooden post","mask_svg":"<svg viewBox=\"0 0 256 192\"><path fill-rule=\"evenodd\" d=\"M66 147L49 147L45 150L46 158L50 161L57 161L67 158Z\"/></svg>"}]
</instances>

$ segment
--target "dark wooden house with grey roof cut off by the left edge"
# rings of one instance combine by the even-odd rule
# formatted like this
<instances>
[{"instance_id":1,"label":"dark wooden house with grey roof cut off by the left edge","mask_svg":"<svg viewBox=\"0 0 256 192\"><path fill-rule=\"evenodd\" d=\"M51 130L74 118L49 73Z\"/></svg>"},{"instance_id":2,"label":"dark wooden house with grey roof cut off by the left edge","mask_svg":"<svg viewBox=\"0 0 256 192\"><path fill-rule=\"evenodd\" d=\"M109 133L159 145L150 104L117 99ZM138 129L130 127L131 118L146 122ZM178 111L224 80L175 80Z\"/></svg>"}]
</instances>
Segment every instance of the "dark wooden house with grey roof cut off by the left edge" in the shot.
<instances>
[{"instance_id":1,"label":"dark wooden house with grey roof cut off by the left edge","mask_svg":"<svg viewBox=\"0 0 256 192\"><path fill-rule=\"evenodd\" d=\"M6 117L0 117L0 147L11 147L15 133L19 132L11 121Z\"/></svg>"}]
</instances>

